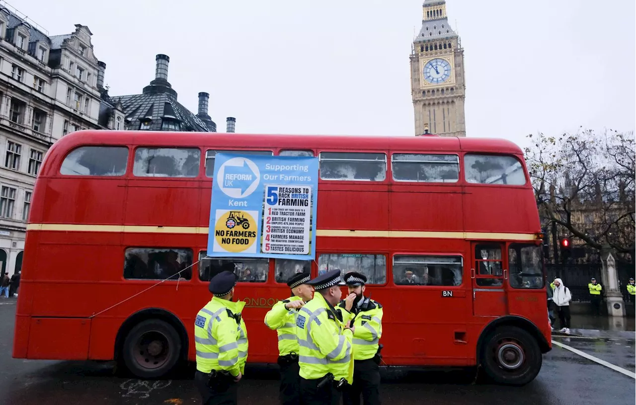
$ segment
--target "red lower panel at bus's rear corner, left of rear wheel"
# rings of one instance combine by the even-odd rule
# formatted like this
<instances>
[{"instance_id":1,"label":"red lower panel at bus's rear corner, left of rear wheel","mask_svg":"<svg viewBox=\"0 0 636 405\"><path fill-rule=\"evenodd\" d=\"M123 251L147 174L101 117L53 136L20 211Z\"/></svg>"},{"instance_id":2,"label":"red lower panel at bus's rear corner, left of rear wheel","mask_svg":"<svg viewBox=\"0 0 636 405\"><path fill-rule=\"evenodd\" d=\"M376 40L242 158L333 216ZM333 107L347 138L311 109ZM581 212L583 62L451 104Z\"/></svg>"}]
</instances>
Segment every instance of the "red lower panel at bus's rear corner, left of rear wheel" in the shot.
<instances>
[{"instance_id":1,"label":"red lower panel at bus's rear corner, left of rear wheel","mask_svg":"<svg viewBox=\"0 0 636 405\"><path fill-rule=\"evenodd\" d=\"M90 319L32 318L29 359L87 360Z\"/></svg>"}]
</instances>

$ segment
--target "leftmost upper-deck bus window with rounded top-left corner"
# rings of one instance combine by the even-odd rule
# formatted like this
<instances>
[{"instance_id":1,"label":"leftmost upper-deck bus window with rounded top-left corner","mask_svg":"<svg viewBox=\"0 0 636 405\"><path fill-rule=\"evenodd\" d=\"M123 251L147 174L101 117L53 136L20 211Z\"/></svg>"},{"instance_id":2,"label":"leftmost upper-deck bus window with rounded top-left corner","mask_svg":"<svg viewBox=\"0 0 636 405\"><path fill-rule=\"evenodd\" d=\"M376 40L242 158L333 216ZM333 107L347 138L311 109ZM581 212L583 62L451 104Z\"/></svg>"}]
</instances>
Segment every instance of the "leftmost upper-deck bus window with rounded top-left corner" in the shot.
<instances>
[{"instance_id":1,"label":"leftmost upper-deck bus window with rounded top-left corner","mask_svg":"<svg viewBox=\"0 0 636 405\"><path fill-rule=\"evenodd\" d=\"M60 167L65 175L123 175L128 163L125 146L81 146L66 155Z\"/></svg>"}]
</instances>

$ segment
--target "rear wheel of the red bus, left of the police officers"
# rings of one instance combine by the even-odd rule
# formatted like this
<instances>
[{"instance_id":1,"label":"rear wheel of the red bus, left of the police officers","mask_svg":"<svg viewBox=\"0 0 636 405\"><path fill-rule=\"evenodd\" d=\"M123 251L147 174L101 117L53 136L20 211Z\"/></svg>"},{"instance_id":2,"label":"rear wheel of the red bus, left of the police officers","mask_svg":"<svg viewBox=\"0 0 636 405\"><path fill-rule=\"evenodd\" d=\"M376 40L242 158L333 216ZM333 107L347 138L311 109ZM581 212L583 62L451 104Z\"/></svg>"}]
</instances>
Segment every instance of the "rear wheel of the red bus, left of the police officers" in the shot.
<instances>
[{"instance_id":1,"label":"rear wheel of the red bus, left of the police officers","mask_svg":"<svg viewBox=\"0 0 636 405\"><path fill-rule=\"evenodd\" d=\"M181 338L169 323L147 319L130 329L123 343L124 364L139 378L157 378L179 362Z\"/></svg>"}]
</instances>

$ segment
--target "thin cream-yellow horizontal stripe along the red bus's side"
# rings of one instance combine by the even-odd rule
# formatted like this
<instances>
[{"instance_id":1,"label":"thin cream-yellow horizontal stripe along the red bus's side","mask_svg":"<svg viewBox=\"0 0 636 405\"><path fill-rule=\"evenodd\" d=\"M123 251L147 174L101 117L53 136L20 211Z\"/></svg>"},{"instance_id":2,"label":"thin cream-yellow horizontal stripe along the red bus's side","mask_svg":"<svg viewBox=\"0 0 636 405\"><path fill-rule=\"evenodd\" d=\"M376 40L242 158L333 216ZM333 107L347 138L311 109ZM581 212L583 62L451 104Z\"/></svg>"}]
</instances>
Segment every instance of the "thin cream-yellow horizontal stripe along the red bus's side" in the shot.
<instances>
[{"instance_id":1,"label":"thin cream-yellow horizontal stripe along the red bus's side","mask_svg":"<svg viewBox=\"0 0 636 405\"><path fill-rule=\"evenodd\" d=\"M81 224L27 224L27 231L66 232L125 232L125 233L186 233L207 235L207 226L142 226L142 225L81 225ZM318 237L345 238L422 238L422 239L492 239L536 240L534 233L497 232L436 232L436 231L374 231L374 230L317 230Z\"/></svg>"}]
</instances>

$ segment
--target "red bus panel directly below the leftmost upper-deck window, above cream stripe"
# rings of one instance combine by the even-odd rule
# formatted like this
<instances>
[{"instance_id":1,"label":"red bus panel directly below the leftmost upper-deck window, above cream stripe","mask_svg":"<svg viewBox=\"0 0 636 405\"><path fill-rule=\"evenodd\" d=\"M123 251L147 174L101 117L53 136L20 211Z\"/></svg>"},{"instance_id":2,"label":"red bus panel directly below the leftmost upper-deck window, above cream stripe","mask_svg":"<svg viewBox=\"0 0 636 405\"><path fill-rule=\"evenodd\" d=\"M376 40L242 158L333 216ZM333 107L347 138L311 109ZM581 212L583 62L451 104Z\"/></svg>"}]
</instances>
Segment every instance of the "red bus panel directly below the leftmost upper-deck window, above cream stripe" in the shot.
<instances>
[{"instance_id":1,"label":"red bus panel directly below the leftmost upper-deck window, above cream stripe","mask_svg":"<svg viewBox=\"0 0 636 405\"><path fill-rule=\"evenodd\" d=\"M47 179L43 222L53 224L121 224L126 197L124 179L90 177ZM46 201L46 204L43 203Z\"/></svg>"}]
</instances>

